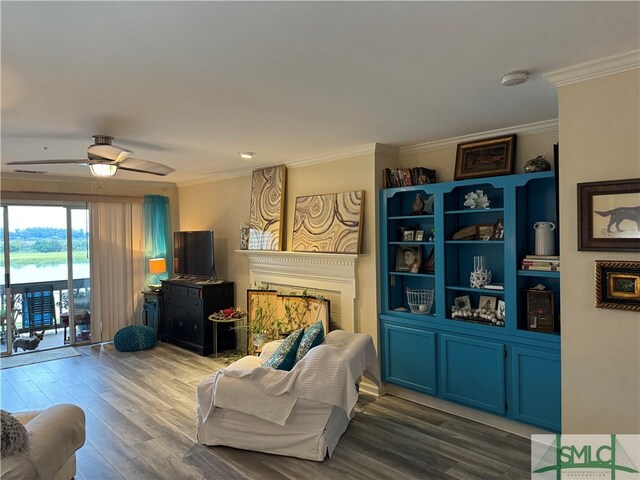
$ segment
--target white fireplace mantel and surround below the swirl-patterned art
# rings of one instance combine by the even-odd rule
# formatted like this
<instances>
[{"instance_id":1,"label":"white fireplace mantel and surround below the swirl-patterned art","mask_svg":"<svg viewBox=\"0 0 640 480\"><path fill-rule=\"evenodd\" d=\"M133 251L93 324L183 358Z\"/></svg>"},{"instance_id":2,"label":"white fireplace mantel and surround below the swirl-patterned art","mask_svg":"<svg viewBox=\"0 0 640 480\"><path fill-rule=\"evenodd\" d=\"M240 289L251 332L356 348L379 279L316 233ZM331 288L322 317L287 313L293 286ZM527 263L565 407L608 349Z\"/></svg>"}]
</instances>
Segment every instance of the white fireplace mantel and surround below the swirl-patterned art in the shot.
<instances>
[{"instance_id":1,"label":"white fireplace mantel and surround below the swirl-patterned art","mask_svg":"<svg viewBox=\"0 0 640 480\"><path fill-rule=\"evenodd\" d=\"M328 294L340 326L355 329L356 254L238 250L249 259L249 284ZM338 301L339 305L334 302Z\"/></svg>"}]
</instances>

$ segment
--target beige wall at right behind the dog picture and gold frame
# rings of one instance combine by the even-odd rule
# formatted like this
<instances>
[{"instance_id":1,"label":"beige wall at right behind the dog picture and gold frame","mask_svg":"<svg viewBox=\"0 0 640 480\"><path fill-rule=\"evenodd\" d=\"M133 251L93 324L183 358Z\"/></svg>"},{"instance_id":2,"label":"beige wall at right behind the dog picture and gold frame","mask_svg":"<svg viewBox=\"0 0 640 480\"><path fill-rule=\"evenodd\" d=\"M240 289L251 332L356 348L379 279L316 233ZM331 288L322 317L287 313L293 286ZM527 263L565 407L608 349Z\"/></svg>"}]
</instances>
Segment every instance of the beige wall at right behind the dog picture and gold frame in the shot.
<instances>
[{"instance_id":1,"label":"beige wall at right behind the dog picture and gold frame","mask_svg":"<svg viewBox=\"0 0 640 480\"><path fill-rule=\"evenodd\" d=\"M640 315L594 307L594 260L577 251L580 182L640 178L638 70L560 87L562 426L564 433L640 432Z\"/></svg>"}]
</instances>

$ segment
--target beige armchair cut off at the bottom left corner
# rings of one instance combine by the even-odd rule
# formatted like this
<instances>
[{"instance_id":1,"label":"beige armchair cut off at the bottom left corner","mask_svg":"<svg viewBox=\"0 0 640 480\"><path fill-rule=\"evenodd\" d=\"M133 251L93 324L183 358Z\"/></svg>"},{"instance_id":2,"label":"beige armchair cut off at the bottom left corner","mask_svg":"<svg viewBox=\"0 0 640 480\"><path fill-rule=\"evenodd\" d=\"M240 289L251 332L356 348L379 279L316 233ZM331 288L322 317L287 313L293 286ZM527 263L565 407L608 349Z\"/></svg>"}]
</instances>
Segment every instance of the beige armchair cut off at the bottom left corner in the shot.
<instances>
[{"instance_id":1,"label":"beige armchair cut off at the bottom left corner","mask_svg":"<svg viewBox=\"0 0 640 480\"><path fill-rule=\"evenodd\" d=\"M30 452L4 457L0 467L2 480L71 480L76 474L76 450L85 440L82 409L60 404L13 416L29 432Z\"/></svg>"}]
</instances>

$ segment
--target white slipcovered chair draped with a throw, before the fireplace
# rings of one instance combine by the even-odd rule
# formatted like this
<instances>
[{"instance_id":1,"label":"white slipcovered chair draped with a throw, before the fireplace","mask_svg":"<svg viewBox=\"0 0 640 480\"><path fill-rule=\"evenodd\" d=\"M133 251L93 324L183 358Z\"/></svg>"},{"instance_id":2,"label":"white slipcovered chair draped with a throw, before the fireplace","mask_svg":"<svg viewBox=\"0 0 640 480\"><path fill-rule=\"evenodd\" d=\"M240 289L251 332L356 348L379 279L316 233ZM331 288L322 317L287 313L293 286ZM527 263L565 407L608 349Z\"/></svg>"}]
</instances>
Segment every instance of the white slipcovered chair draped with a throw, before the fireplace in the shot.
<instances>
[{"instance_id":1,"label":"white slipcovered chair draped with a throw, before the fireplace","mask_svg":"<svg viewBox=\"0 0 640 480\"><path fill-rule=\"evenodd\" d=\"M241 358L198 384L198 441L322 461L355 414L360 376L380 382L373 340L330 332L290 371L262 366L276 347L271 342L260 357Z\"/></svg>"}]
</instances>

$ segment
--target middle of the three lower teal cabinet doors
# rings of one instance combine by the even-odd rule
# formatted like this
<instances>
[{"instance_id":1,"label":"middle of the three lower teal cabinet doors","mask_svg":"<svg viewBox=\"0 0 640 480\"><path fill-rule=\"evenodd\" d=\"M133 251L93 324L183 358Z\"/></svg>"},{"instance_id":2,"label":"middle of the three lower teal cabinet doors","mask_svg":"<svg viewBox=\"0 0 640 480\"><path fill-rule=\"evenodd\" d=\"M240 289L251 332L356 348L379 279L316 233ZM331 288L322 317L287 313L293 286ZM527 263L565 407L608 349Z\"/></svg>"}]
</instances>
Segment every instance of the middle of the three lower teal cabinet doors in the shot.
<instances>
[{"instance_id":1,"label":"middle of the three lower teal cabinet doors","mask_svg":"<svg viewBox=\"0 0 640 480\"><path fill-rule=\"evenodd\" d=\"M494 413L505 413L505 346L443 334L442 397Z\"/></svg>"}]
</instances>

